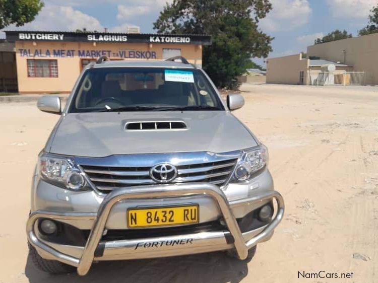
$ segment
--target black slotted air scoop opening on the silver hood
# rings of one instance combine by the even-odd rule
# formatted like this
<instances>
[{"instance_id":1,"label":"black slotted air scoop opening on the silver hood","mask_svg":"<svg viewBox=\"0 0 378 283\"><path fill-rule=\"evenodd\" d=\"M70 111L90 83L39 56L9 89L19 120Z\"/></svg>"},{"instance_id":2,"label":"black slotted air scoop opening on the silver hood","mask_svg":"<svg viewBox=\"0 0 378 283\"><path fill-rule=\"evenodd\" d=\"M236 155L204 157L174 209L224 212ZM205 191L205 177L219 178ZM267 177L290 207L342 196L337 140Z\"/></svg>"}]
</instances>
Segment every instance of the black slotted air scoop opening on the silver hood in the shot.
<instances>
[{"instance_id":1,"label":"black slotted air scoop opening on the silver hood","mask_svg":"<svg viewBox=\"0 0 378 283\"><path fill-rule=\"evenodd\" d=\"M141 130L186 130L186 123L183 121L141 121L127 122L124 126L125 130L141 131Z\"/></svg>"}]
</instances>

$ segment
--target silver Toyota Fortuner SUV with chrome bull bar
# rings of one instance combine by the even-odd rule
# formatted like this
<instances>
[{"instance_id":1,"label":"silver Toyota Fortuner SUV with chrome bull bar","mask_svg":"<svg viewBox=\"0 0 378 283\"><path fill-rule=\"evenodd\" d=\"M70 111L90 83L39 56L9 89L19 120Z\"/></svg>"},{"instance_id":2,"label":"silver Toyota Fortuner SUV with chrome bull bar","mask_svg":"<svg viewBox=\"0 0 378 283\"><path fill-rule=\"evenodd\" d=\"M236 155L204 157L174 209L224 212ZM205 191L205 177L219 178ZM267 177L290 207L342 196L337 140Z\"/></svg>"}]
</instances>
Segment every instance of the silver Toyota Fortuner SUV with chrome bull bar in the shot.
<instances>
[{"instance_id":1,"label":"silver Toyota Fortuner SUV with chrome bull bar","mask_svg":"<svg viewBox=\"0 0 378 283\"><path fill-rule=\"evenodd\" d=\"M180 62L177 60L180 59ZM268 151L205 72L174 57L109 61L80 75L39 154L27 222L35 265L227 251L245 260L282 220ZM275 200L275 201L274 201Z\"/></svg>"}]
</instances>

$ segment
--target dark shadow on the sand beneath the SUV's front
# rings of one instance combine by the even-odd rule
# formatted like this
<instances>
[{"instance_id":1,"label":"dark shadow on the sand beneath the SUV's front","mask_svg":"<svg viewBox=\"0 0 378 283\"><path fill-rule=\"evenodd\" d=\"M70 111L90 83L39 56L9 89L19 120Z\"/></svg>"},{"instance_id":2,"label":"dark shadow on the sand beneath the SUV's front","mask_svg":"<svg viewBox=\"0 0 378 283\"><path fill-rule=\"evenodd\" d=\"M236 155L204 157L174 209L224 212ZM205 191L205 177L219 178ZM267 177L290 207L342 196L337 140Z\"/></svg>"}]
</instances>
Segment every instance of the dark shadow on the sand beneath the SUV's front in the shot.
<instances>
[{"instance_id":1,"label":"dark shadow on the sand beneath the SUV's front","mask_svg":"<svg viewBox=\"0 0 378 283\"><path fill-rule=\"evenodd\" d=\"M36 269L28 256L25 274L30 283L166 283L240 282L248 273L247 261L226 256L222 252L128 261L94 263L82 277L76 272L50 275Z\"/></svg>"}]
</instances>

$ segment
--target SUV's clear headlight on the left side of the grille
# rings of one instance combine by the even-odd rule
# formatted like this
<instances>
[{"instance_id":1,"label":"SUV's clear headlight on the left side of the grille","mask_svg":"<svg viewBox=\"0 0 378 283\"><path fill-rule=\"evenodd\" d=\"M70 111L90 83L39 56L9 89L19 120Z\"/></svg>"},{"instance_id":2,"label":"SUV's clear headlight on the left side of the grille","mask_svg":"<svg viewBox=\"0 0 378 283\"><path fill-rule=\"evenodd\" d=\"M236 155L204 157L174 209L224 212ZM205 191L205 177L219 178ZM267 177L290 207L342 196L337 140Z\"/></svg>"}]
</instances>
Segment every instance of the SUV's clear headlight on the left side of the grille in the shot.
<instances>
[{"instance_id":1,"label":"SUV's clear headlight on the left side of the grille","mask_svg":"<svg viewBox=\"0 0 378 283\"><path fill-rule=\"evenodd\" d=\"M70 159L41 154L38 165L42 179L49 183L72 190L86 188L83 173Z\"/></svg>"}]
</instances>

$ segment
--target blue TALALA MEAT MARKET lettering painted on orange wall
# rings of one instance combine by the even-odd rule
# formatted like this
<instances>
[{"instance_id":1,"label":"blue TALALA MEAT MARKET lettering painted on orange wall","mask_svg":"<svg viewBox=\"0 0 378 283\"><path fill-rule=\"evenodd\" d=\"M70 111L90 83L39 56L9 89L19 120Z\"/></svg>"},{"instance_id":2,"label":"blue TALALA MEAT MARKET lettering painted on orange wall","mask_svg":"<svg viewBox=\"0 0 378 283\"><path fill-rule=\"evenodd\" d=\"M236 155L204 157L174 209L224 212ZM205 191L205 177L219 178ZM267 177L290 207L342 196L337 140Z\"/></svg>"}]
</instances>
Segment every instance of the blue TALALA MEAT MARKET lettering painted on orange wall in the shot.
<instances>
[{"instance_id":1,"label":"blue TALALA MEAT MARKET lettering painted on orange wall","mask_svg":"<svg viewBox=\"0 0 378 283\"><path fill-rule=\"evenodd\" d=\"M135 58L135 59L156 59L155 51L146 50L75 50L75 49L24 49L19 48L18 52L21 57L37 57L37 58L98 58L107 56L109 58Z\"/></svg>"}]
</instances>

